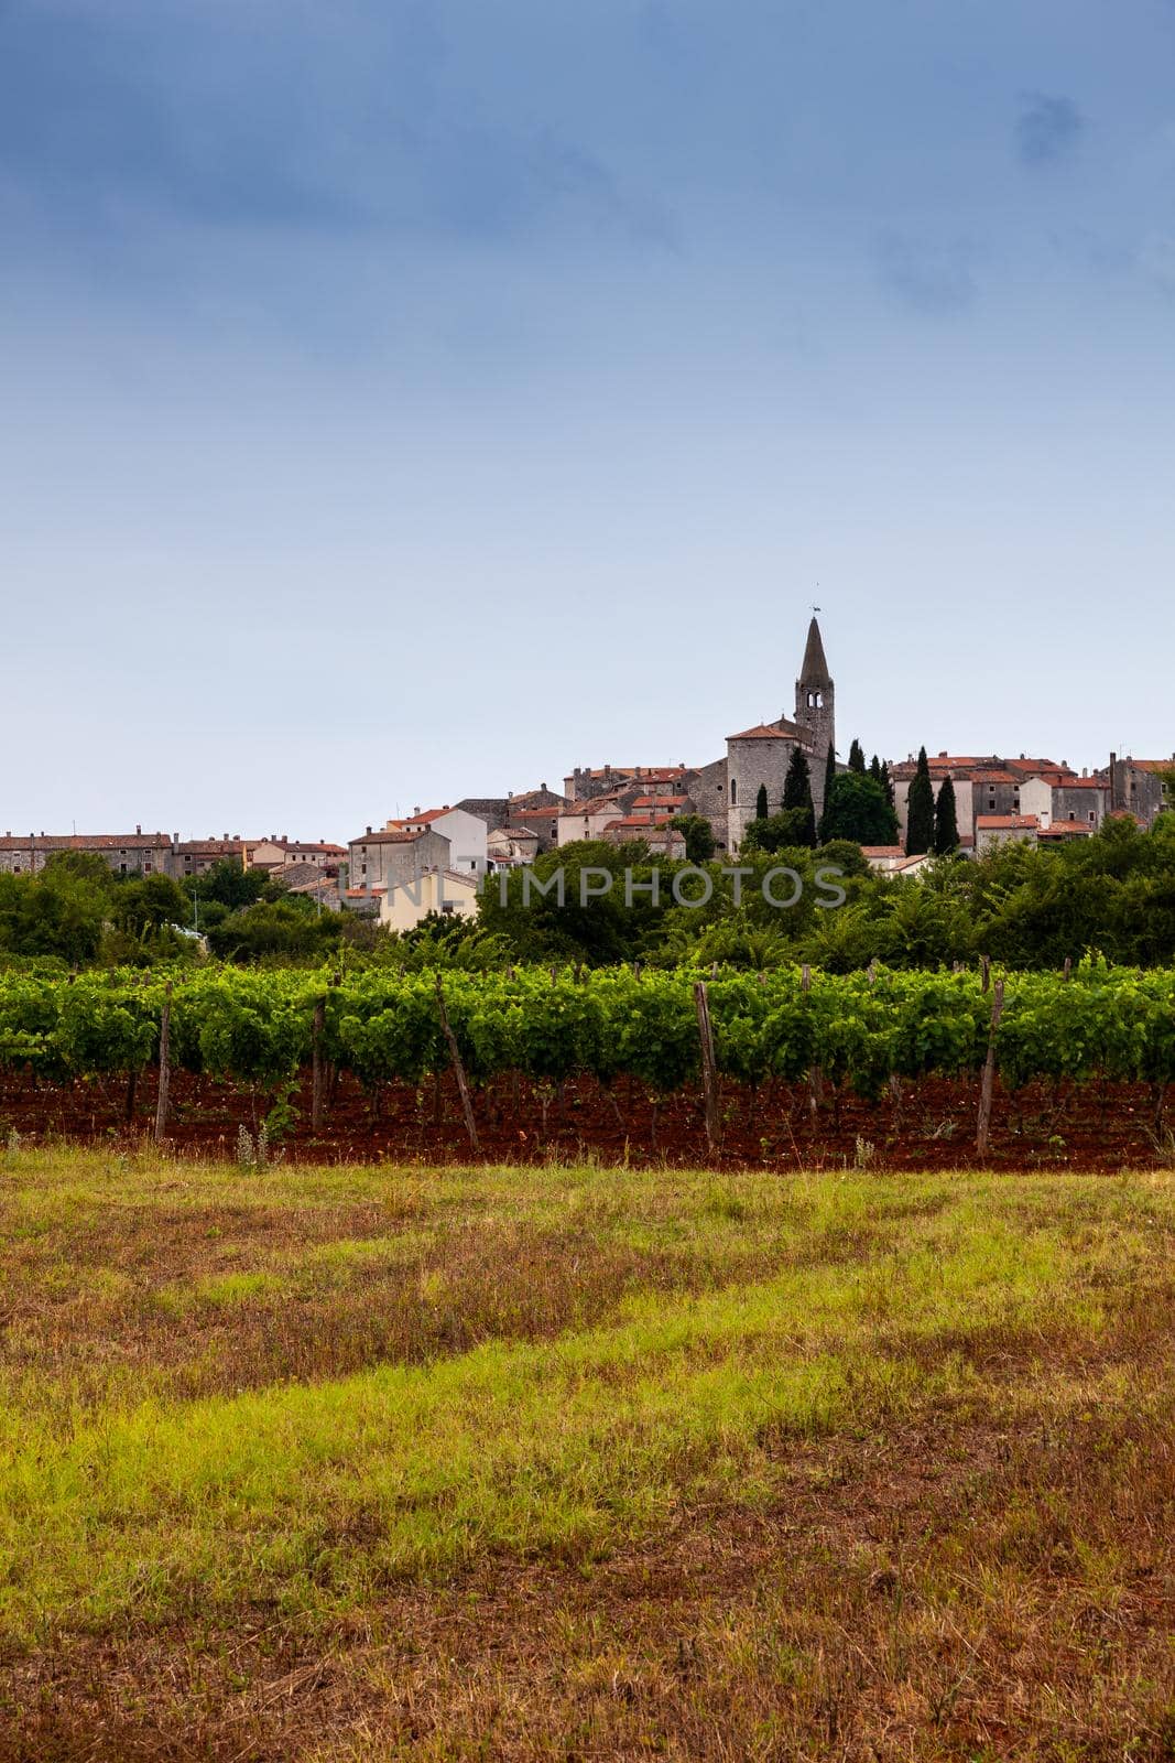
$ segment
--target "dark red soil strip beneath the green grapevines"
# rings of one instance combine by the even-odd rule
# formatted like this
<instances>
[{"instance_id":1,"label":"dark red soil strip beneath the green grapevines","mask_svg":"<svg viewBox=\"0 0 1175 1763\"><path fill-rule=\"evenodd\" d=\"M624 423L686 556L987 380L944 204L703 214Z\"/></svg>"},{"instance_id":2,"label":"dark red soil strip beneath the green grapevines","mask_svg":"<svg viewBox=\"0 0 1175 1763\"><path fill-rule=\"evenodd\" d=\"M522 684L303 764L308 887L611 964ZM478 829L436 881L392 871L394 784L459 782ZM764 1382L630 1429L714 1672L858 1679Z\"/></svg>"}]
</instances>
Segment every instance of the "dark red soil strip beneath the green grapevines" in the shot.
<instances>
[{"instance_id":1,"label":"dark red soil strip beneath the green grapevines","mask_svg":"<svg viewBox=\"0 0 1175 1763\"><path fill-rule=\"evenodd\" d=\"M266 1118L271 1098L248 1086L173 1074L169 1142L201 1157L236 1157L238 1128ZM472 1149L453 1075L421 1090L388 1084L379 1105L347 1074L329 1097L322 1127L310 1127L310 1074L303 1074L296 1121L273 1134L294 1162L465 1164ZM1170 1162L1171 1137L1145 1084L1034 1084L1018 1095L997 1086L990 1151L974 1149L978 1082L902 1082L877 1102L833 1093L814 1102L807 1082L770 1084L757 1095L724 1082L722 1142L706 1146L701 1095L684 1090L654 1109L620 1081L615 1097L590 1079L569 1081L562 1098L504 1077L474 1093L479 1160L537 1164L550 1157L592 1155L602 1164L669 1164L726 1169L819 1169L860 1164L879 1169L1069 1167L1113 1171ZM44 1142L125 1141L148 1135L155 1120L155 1072L137 1082L127 1116L120 1081L81 1079L37 1086L32 1077L0 1077L0 1134Z\"/></svg>"}]
</instances>

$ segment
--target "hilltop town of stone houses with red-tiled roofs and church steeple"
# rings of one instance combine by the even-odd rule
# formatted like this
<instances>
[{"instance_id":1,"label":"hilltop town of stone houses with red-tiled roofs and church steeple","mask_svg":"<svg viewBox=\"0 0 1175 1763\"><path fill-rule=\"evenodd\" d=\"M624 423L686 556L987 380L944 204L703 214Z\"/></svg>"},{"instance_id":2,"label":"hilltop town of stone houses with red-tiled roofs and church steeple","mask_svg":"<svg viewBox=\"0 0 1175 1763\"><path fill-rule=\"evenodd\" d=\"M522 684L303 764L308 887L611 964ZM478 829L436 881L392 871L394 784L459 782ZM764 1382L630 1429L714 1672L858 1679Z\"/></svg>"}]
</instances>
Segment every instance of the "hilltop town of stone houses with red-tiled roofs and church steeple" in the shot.
<instances>
[{"instance_id":1,"label":"hilltop town of stone houses with red-tiled roofs and church steeple","mask_svg":"<svg viewBox=\"0 0 1175 1763\"><path fill-rule=\"evenodd\" d=\"M462 797L439 807L412 809L382 825L366 825L345 844L291 839L271 832L241 837L181 839L178 832L14 834L0 837L0 873L35 874L58 852L93 852L115 874L167 874L192 880L225 860L264 871L284 890L319 910L377 917L405 931L430 911L472 913L486 873L532 864L541 853L583 841L639 844L652 855L685 859L689 827L708 829L706 850L735 857L756 822L789 806L810 815L812 836L826 825L835 779L856 767L872 774L891 809L891 837L860 837L867 860L886 874L913 874L935 853L934 839L914 837L911 792L920 760L872 760L865 770L856 740L849 758L837 746L835 682L812 617L794 684L793 714L728 735L726 753L689 765L576 765L562 790L546 783L502 797ZM856 762L854 762L856 755ZM1112 816L1127 815L1149 827L1164 804L1170 760L1110 753L1096 770L1075 770L1068 760L1043 756L923 756L934 807L951 797L946 848L983 855L1006 843L1032 846L1089 837ZM800 793L791 799L789 792ZM851 829L849 829L851 830ZM814 843L814 837L812 837Z\"/></svg>"}]
</instances>

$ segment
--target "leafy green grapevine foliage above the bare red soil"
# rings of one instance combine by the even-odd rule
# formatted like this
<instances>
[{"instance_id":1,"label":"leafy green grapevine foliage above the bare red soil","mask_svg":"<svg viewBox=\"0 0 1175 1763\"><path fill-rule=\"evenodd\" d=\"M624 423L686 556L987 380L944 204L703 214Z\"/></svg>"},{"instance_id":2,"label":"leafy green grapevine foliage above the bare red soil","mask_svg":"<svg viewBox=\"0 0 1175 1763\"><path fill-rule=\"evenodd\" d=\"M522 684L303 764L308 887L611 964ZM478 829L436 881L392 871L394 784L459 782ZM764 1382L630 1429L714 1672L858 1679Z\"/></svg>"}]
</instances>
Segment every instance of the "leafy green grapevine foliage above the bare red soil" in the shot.
<instances>
[{"instance_id":1,"label":"leafy green grapevine foliage above the bare red soil","mask_svg":"<svg viewBox=\"0 0 1175 1763\"><path fill-rule=\"evenodd\" d=\"M375 1091L453 1063L444 1010L472 1086L518 1072L539 1084L627 1075L669 1095L699 1075L694 970L590 973L0 975L0 1065L39 1082L132 1075L159 1058L169 1005L173 1068L277 1088L312 1056ZM1002 982L995 1065L1034 1079L1175 1079L1175 971L1083 963L1071 977ZM830 975L800 968L706 977L717 1072L747 1084L817 1068L876 1097L891 1077L976 1074L992 1040L978 973ZM315 1026L317 1024L317 1026Z\"/></svg>"}]
</instances>

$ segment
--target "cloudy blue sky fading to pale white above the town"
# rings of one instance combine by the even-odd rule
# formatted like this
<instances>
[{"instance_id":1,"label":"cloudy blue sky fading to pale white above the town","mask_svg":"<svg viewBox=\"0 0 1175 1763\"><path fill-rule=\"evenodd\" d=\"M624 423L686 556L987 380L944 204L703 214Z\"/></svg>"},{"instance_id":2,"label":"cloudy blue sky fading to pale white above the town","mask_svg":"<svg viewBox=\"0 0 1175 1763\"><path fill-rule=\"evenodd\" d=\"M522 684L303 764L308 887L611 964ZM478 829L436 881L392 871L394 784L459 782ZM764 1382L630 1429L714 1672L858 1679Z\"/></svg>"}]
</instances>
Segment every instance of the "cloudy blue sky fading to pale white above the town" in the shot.
<instances>
[{"instance_id":1,"label":"cloudy blue sky fading to pale white above the town","mask_svg":"<svg viewBox=\"0 0 1175 1763\"><path fill-rule=\"evenodd\" d=\"M1175 749L1175 0L0 0L0 832Z\"/></svg>"}]
</instances>

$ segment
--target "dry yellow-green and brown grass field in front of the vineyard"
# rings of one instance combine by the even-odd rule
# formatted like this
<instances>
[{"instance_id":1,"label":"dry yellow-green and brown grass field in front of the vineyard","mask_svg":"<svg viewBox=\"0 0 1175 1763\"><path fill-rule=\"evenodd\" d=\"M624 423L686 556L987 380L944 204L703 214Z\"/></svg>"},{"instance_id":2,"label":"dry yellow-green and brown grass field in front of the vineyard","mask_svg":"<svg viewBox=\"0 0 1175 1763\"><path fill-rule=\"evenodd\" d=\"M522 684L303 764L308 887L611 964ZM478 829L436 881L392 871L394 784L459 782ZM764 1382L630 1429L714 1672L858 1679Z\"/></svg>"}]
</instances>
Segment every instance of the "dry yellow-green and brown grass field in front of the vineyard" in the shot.
<instances>
[{"instance_id":1,"label":"dry yellow-green and brown grass field in front of the vineyard","mask_svg":"<svg viewBox=\"0 0 1175 1763\"><path fill-rule=\"evenodd\" d=\"M1175 1758L1175 1179L0 1160L0 1759Z\"/></svg>"}]
</instances>

